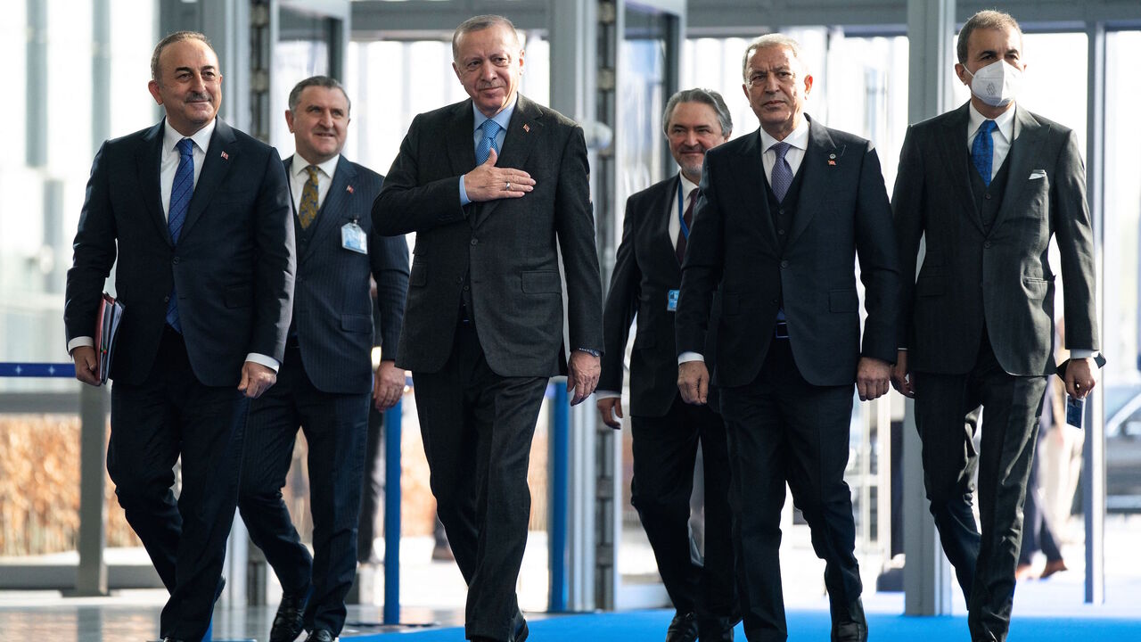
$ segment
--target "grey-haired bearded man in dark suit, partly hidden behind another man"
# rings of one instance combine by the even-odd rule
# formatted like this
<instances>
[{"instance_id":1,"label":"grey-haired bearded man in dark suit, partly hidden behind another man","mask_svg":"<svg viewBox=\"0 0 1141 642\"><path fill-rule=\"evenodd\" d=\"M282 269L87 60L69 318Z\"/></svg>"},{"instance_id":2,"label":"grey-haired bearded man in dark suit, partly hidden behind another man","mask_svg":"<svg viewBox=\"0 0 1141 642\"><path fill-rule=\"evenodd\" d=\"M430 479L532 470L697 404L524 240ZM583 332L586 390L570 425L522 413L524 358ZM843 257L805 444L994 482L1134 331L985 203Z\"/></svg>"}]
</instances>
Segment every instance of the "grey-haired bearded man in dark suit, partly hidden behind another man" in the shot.
<instances>
[{"instance_id":1,"label":"grey-haired bearded man in dark suit, partly hidden behind another man","mask_svg":"<svg viewBox=\"0 0 1141 642\"><path fill-rule=\"evenodd\" d=\"M737 623L729 462L725 424L715 404L691 406L678 394L673 315L681 258L693 224L705 152L725 143L733 120L717 91L686 89L670 97L662 117L670 152L681 171L630 196L622 243L602 315L606 346L599 377L602 423L621 428L622 370L630 323L638 332L630 355L630 423L633 480L630 501L654 548L662 583L677 613L666 642L733 640ZM714 354L713 332L705 354ZM701 443L704 459L705 563L691 561L689 497Z\"/></svg>"}]
</instances>

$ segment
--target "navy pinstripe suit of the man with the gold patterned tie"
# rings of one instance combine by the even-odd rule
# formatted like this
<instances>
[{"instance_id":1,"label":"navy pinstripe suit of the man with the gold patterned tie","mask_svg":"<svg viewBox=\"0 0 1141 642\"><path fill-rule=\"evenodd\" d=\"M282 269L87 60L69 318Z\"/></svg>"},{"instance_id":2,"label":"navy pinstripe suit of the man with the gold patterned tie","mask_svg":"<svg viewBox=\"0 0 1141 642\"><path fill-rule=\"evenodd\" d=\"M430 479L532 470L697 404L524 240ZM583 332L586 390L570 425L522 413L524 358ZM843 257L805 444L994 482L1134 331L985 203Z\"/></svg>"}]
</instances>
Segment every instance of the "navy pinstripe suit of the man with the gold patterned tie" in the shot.
<instances>
[{"instance_id":1,"label":"navy pinstripe suit of the man with the gold patterned tie","mask_svg":"<svg viewBox=\"0 0 1141 642\"><path fill-rule=\"evenodd\" d=\"M291 161L285 161L286 171ZM277 385L250 404L238 500L250 537L282 588L311 593L306 628L327 628L333 635L345 625L345 596L356 572L372 391L369 275L377 280L386 359L396 358L408 284L404 238L380 236L372 226L370 210L383 180L341 157L316 220L308 230L297 224L293 323ZM341 230L353 223L369 240L367 254L342 247ZM299 427L309 448L311 559L281 493Z\"/></svg>"}]
</instances>

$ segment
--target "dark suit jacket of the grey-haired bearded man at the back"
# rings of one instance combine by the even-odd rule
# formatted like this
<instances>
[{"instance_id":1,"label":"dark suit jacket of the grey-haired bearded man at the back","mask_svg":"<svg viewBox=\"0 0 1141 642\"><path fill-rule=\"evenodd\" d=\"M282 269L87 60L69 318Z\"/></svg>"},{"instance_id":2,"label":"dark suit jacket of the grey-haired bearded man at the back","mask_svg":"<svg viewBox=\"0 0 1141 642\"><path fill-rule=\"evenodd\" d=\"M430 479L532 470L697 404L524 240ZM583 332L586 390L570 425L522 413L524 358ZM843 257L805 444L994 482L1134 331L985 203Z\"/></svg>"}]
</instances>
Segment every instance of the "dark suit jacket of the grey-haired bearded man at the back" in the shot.
<instances>
[{"instance_id":1,"label":"dark suit jacket of the grey-haired bearded man at the back","mask_svg":"<svg viewBox=\"0 0 1141 642\"><path fill-rule=\"evenodd\" d=\"M630 323L637 316L638 330L630 354L630 414L644 417L664 416L678 396L673 324L677 313L666 310L666 298L670 290L681 287L681 265L670 238L670 220L678 216L673 206L679 182L674 175L626 200L622 243L615 255L602 312L606 353L598 390L622 391L622 361ZM715 361L715 335L714 321L702 351L711 370Z\"/></svg>"}]
</instances>

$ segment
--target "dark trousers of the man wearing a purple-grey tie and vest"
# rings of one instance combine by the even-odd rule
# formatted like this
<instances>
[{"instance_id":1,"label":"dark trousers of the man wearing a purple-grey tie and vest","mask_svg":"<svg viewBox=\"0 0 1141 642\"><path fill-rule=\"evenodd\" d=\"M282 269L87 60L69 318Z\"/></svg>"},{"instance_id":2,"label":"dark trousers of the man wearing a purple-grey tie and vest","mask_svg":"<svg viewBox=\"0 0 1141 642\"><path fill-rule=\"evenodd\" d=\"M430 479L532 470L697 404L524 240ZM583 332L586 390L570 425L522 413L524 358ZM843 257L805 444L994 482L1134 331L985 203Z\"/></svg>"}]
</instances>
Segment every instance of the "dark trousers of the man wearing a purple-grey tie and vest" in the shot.
<instances>
[{"instance_id":1,"label":"dark trousers of the man wearing a purple-grey tie and vest","mask_svg":"<svg viewBox=\"0 0 1141 642\"><path fill-rule=\"evenodd\" d=\"M753 383L721 388L737 591L752 642L788 637L779 557L785 482L811 528L812 548L825 561L824 584L834 608L845 608L863 592L844 482L852 392L851 385L806 382L787 339L772 339Z\"/></svg>"}]
</instances>

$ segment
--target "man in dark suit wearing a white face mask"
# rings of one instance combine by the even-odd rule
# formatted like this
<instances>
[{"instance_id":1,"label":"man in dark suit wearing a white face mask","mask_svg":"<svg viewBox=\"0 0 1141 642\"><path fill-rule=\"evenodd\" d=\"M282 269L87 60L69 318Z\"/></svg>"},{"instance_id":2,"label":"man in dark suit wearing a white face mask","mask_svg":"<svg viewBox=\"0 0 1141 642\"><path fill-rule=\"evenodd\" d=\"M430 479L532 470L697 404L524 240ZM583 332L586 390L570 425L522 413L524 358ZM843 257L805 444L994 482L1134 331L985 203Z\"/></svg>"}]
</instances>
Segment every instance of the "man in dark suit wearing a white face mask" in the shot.
<instances>
[{"instance_id":1,"label":"man in dark suit wearing a white face mask","mask_svg":"<svg viewBox=\"0 0 1141 642\"><path fill-rule=\"evenodd\" d=\"M896 178L901 348L892 384L915 398L931 514L966 596L974 640L1010 627L1022 501L1046 377L1054 369L1058 241L1066 292L1066 391L1094 385L1093 242L1074 133L1015 105L1022 33L980 11L958 33L971 101L907 131ZM920 238L926 255L913 278ZM963 417L985 408L981 452ZM971 513L978 470L981 536Z\"/></svg>"}]
</instances>

